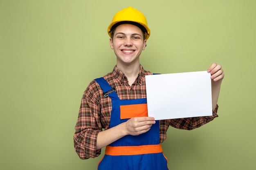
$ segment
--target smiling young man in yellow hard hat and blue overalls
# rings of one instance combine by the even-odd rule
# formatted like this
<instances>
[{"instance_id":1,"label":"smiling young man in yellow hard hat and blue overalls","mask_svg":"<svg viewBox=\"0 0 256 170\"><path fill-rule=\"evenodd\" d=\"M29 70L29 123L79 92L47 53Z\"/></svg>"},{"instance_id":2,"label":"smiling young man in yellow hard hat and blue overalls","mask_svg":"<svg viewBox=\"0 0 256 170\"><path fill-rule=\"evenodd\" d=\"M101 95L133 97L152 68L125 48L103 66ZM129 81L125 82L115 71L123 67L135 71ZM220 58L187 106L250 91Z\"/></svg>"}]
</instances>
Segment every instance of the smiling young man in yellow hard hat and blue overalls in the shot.
<instances>
[{"instance_id":1,"label":"smiling young man in yellow hard hat and blue overalls","mask_svg":"<svg viewBox=\"0 0 256 170\"><path fill-rule=\"evenodd\" d=\"M81 159L94 158L106 146L99 170L167 170L161 144L169 126L192 130L217 115L217 101L224 72L213 63L213 116L155 121L146 110L145 71L139 63L150 29L144 15L132 7L116 13L108 27L110 48L117 64L111 73L90 82L85 90L74 134L74 147ZM102 130L105 129L105 130Z\"/></svg>"}]
</instances>

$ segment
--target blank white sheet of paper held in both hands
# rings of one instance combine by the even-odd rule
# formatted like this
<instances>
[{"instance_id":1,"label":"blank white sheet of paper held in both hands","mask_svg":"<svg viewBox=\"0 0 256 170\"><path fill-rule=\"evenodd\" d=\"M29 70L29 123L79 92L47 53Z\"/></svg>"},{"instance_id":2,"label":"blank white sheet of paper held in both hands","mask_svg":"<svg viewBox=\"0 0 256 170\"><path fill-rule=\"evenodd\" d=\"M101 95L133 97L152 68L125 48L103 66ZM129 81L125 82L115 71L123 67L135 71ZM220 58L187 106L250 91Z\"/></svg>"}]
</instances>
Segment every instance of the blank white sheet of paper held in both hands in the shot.
<instances>
[{"instance_id":1,"label":"blank white sheet of paper held in both hands","mask_svg":"<svg viewBox=\"0 0 256 170\"><path fill-rule=\"evenodd\" d=\"M155 120L212 116L207 71L146 75L148 116Z\"/></svg>"}]
</instances>

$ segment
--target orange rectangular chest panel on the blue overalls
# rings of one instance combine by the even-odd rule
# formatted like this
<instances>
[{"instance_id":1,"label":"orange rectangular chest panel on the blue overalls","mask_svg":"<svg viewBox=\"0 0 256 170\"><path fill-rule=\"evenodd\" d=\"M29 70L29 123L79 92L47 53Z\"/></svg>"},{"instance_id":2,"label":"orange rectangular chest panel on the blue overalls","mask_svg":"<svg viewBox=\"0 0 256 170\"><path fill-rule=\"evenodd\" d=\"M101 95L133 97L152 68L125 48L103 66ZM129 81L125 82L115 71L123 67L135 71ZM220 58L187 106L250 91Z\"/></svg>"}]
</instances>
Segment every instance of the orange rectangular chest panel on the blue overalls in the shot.
<instances>
[{"instance_id":1,"label":"orange rectangular chest panel on the blue overalls","mask_svg":"<svg viewBox=\"0 0 256 170\"><path fill-rule=\"evenodd\" d=\"M132 117L148 116L147 104L130 104L120 106L120 118L130 119Z\"/></svg>"}]
</instances>

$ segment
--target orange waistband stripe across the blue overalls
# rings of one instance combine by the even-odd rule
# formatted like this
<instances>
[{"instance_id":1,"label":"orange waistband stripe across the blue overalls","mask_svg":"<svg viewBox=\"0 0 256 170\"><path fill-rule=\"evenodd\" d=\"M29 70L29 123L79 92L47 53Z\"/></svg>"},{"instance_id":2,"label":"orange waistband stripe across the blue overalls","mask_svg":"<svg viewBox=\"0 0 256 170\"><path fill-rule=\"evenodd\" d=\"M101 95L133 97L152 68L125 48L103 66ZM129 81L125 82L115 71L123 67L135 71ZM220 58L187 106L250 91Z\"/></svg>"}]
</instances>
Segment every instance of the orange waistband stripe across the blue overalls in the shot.
<instances>
[{"instance_id":1,"label":"orange waistband stripe across the blue overalls","mask_svg":"<svg viewBox=\"0 0 256 170\"><path fill-rule=\"evenodd\" d=\"M105 154L112 156L142 155L163 152L161 144L142 146L106 146Z\"/></svg>"}]
</instances>

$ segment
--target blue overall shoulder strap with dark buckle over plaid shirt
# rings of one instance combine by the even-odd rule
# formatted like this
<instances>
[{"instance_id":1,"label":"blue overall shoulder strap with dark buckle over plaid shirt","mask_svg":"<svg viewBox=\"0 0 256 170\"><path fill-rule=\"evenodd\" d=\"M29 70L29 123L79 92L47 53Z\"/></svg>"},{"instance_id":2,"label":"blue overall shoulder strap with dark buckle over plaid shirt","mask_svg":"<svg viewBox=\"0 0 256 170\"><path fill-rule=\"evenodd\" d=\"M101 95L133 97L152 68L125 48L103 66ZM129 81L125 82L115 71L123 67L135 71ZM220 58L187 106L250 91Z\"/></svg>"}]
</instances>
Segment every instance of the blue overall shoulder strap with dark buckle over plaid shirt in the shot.
<instances>
[{"instance_id":1,"label":"blue overall shoulder strap with dark buckle over plaid shirt","mask_svg":"<svg viewBox=\"0 0 256 170\"><path fill-rule=\"evenodd\" d=\"M103 90L103 95L104 97L111 97L111 99L119 99L117 96L117 93L115 92L115 88L112 88L110 84L104 79L103 77L94 79L100 86L101 89Z\"/></svg>"}]
</instances>

